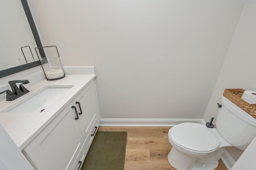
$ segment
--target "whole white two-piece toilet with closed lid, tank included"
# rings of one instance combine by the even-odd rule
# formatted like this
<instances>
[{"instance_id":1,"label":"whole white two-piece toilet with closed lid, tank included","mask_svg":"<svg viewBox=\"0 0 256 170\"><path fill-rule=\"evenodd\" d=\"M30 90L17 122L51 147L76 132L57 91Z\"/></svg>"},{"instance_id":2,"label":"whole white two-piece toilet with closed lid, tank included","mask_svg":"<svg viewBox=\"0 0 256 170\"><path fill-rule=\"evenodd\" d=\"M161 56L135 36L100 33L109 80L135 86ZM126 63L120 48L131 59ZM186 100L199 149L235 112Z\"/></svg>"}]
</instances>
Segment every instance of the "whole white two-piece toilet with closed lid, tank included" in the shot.
<instances>
[{"instance_id":1,"label":"whole white two-piece toilet with closed lid, tank included","mask_svg":"<svg viewBox=\"0 0 256 170\"><path fill-rule=\"evenodd\" d=\"M222 95L216 128L181 123L168 132L172 149L168 161L177 170L214 170L224 147L242 150L256 136L256 119Z\"/></svg>"}]
</instances>

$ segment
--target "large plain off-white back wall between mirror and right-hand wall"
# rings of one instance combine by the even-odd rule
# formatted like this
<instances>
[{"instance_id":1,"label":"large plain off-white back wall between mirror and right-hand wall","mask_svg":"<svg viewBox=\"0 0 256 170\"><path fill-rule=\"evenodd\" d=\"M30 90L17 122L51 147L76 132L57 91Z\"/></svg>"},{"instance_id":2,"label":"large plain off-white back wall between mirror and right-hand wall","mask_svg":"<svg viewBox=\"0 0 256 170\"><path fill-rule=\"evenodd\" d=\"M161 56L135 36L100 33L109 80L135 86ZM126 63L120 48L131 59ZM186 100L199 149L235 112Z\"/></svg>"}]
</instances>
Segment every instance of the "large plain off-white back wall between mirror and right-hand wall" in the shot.
<instances>
[{"instance_id":1,"label":"large plain off-white back wall between mirror and right-hand wall","mask_svg":"<svg viewBox=\"0 0 256 170\"><path fill-rule=\"evenodd\" d=\"M202 119L241 0L30 0L64 66L96 68L102 118Z\"/></svg>"}]
</instances>

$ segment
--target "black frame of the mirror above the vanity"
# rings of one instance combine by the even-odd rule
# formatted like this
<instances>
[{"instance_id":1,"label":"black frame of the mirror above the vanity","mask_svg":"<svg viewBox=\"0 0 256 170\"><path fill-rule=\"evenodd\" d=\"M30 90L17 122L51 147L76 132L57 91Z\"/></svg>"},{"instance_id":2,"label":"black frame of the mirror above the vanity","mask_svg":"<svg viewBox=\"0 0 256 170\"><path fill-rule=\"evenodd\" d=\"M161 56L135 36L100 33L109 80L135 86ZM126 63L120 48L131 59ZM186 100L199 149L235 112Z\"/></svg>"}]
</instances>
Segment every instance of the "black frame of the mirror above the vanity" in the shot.
<instances>
[{"instance_id":1,"label":"black frame of the mirror above the vanity","mask_svg":"<svg viewBox=\"0 0 256 170\"><path fill-rule=\"evenodd\" d=\"M28 23L30 25L30 28L31 28L32 34L34 36L34 39L36 41L36 45L37 45L37 47L42 47L42 43L41 43L40 37L38 35L38 32L36 30L36 25L35 25L35 22L33 20L32 14L30 12L30 8L28 6L28 2L27 2L27 0L21 0L21 3L22 3L22 6L24 8L25 14L26 14L26 16L28 18ZM12 68L9 68L9 69L1 70L0 71L0 78L6 77L8 75L12 75L14 73L18 73L20 71L24 71L26 69L30 69L30 68L36 67L38 65L40 65L40 61L34 61L32 63L18 65L16 67L12 67Z\"/></svg>"}]
</instances>

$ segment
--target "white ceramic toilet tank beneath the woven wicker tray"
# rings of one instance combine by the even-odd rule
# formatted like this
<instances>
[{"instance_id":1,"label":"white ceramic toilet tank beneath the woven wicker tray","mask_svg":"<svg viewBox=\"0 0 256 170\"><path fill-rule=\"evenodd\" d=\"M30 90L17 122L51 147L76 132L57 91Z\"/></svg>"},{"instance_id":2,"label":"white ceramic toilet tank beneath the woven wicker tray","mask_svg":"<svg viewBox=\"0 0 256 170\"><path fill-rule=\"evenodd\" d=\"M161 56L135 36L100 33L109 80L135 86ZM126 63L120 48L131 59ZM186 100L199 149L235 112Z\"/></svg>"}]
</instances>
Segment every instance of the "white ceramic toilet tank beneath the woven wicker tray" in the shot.
<instances>
[{"instance_id":1,"label":"white ceramic toilet tank beneath the woven wicker tray","mask_svg":"<svg viewBox=\"0 0 256 170\"><path fill-rule=\"evenodd\" d=\"M256 119L222 95L216 128L233 146L245 150L256 136Z\"/></svg>"}]
</instances>

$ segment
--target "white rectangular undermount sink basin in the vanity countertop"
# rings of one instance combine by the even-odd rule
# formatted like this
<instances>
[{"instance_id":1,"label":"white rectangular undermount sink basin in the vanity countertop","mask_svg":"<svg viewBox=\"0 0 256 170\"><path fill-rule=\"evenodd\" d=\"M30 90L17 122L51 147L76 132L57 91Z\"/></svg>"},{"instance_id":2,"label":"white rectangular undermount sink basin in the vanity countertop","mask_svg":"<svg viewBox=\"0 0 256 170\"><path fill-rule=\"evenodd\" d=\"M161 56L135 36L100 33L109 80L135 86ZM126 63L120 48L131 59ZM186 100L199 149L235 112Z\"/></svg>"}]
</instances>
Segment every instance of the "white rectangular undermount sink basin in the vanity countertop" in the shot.
<instances>
[{"instance_id":1,"label":"white rectangular undermount sink basin in the vanity countertop","mask_svg":"<svg viewBox=\"0 0 256 170\"><path fill-rule=\"evenodd\" d=\"M44 87L2 112L42 112L72 87ZM29 93L28 93L29 94Z\"/></svg>"}]
</instances>

